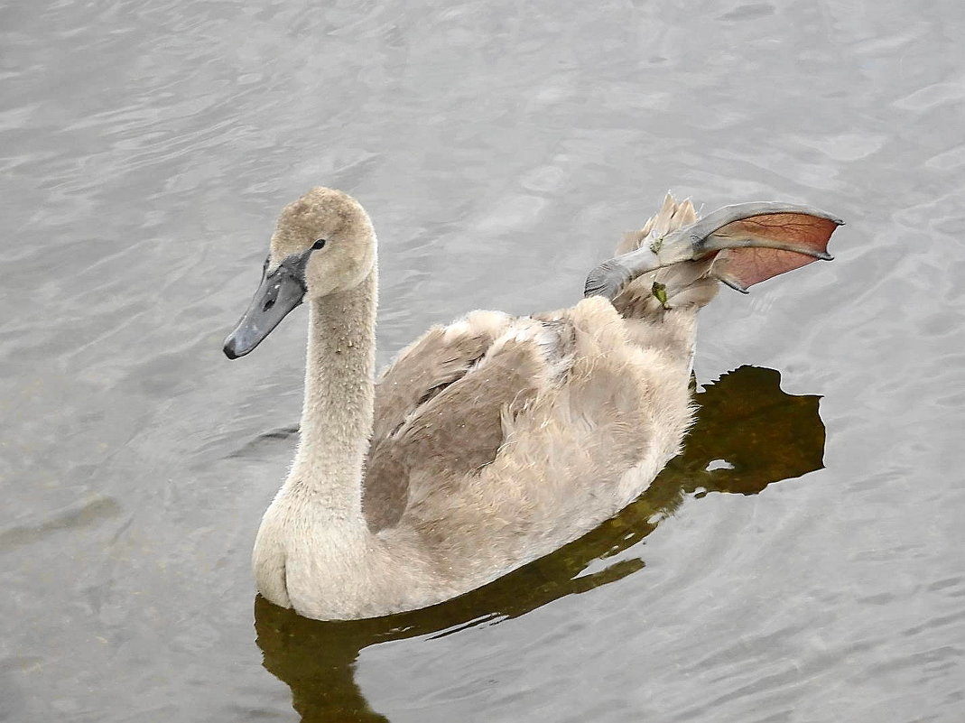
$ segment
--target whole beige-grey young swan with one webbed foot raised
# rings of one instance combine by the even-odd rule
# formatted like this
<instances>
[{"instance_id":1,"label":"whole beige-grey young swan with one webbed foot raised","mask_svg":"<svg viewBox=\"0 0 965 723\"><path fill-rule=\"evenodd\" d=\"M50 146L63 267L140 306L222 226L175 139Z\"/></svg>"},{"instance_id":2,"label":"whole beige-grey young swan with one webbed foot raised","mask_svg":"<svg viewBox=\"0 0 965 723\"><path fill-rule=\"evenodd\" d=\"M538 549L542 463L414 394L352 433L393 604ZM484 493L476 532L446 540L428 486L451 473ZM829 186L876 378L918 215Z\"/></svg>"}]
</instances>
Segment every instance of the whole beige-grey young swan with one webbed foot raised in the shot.
<instances>
[{"instance_id":1,"label":"whole beige-grey young swan with one webbed foot raised","mask_svg":"<svg viewBox=\"0 0 965 723\"><path fill-rule=\"evenodd\" d=\"M283 209L228 337L247 354L309 305L301 442L264 514L265 598L319 620L424 607L580 537L639 495L691 423L697 310L814 259L841 222L748 204L701 221L667 198L568 309L435 326L376 382L375 233L351 197Z\"/></svg>"}]
</instances>

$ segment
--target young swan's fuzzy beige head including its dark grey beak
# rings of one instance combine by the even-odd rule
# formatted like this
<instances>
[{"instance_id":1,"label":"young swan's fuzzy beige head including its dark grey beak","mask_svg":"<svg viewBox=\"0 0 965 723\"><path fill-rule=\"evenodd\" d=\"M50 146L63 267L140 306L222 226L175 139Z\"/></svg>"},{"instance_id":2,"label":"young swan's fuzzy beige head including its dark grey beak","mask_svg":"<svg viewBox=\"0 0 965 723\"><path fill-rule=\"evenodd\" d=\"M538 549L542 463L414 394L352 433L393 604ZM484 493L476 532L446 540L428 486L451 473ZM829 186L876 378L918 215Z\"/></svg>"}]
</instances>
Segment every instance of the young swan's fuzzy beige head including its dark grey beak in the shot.
<instances>
[{"instance_id":1,"label":"young swan's fuzzy beige head including its dark grey beak","mask_svg":"<svg viewBox=\"0 0 965 723\"><path fill-rule=\"evenodd\" d=\"M225 340L229 359L244 356L303 301L355 288L375 264L375 233L348 194L317 187L282 209L262 283Z\"/></svg>"}]
</instances>

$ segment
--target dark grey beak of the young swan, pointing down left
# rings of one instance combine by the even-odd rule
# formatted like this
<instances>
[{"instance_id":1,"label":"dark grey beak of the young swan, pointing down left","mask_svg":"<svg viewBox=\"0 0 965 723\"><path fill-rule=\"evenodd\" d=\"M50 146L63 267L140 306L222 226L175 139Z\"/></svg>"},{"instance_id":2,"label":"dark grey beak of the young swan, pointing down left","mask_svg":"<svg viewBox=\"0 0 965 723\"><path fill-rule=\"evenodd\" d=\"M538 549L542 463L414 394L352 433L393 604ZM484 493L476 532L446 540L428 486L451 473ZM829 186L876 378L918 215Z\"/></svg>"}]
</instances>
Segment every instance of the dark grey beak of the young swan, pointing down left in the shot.
<instances>
[{"instance_id":1,"label":"dark grey beak of the young swan, pointing down left","mask_svg":"<svg viewBox=\"0 0 965 723\"><path fill-rule=\"evenodd\" d=\"M237 359L256 348L302 302L305 281L304 264L299 264L300 261L290 257L262 276L262 284L248 310L225 340L225 356Z\"/></svg>"}]
</instances>

